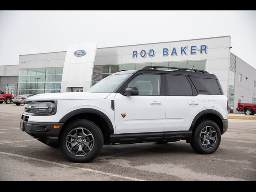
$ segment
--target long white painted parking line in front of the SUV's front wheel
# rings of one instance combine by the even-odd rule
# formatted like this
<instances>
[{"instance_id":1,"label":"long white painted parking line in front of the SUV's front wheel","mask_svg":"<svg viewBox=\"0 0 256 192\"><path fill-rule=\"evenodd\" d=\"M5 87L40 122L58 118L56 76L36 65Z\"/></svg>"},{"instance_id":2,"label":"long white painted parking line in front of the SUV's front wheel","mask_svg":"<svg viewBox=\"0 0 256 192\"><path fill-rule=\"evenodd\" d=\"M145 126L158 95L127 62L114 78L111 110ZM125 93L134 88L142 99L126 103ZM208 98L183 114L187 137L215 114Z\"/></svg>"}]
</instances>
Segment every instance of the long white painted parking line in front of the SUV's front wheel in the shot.
<instances>
[{"instance_id":1,"label":"long white painted parking line in front of the SUV's front wheel","mask_svg":"<svg viewBox=\"0 0 256 192\"><path fill-rule=\"evenodd\" d=\"M5 154L5 155L10 155L10 156L15 156L15 157L20 157L20 158L25 158L25 159L45 162L45 163L54 164L54 165L58 165L58 166L69 167L69 168L78 168L78 169L81 169L81 170L84 170L84 171L88 171L88 172L93 172L93 173L108 175L108 176L112 176L112 177L128 179L128 180L132 180L132 181L146 181L146 180L142 180L142 179L126 177L126 176L122 176L122 175L118 175L118 174L113 174L113 173L108 173L108 172L103 172L103 171L97 171L97 170L88 169L88 168L73 167L73 166L70 166L70 165L62 164L62 163L57 163L57 162L52 162L52 161L47 161L47 160L42 160L42 159L37 159L37 158L32 158L32 157L27 157L27 156L23 156L23 155L17 155L17 154L6 153L6 152L0 152L0 154Z\"/></svg>"}]
</instances>

